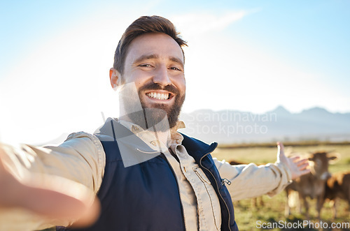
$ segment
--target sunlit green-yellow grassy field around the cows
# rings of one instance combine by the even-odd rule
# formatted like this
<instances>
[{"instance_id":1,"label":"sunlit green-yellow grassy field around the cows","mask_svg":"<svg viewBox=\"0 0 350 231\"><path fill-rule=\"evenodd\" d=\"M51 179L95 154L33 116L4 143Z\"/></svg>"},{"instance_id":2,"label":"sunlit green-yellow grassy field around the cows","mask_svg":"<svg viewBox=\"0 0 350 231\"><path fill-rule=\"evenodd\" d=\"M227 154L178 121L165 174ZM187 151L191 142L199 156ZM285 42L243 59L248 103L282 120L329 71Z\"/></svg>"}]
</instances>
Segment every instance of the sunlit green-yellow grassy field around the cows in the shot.
<instances>
[{"instance_id":1,"label":"sunlit green-yellow grassy field around the cows","mask_svg":"<svg viewBox=\"0 0 350 231\"><path fill-rule=\"evenodd\" d=\"M276 147L273 145L246 145L247 147L219 147L213 156L219 160L225 159L226 161L235 160L247 163L267 163L274 162L276 160ZM338 172L342 170L350 170L350 144L311 144L311 145L293 145L293 151L297 152L308 152L316 150L325 151L336 151L341 154L342 158L339 159L334 165L330 165L330 172ZM239 230L262 230L262 228L257 228L257 225L262 223L275 223L277 225L279 222L288 223L289 227L297 222L302 223L306 218L299 214L299 212L294 208L292 209L292 214L290 216L284 216L284 207L286 204L286 193L284 191L279 195L274 196L274 198L269 198L268 196L263 196L264 201L263 206L258 206L256 208L251 206L251 200L241 200L239 202L234 202L235 205L235 216L236 221L239 226ZM326 228L317 229L319 223L316 218L316 205L314 200L309 200L310 202L310 220L314 223L314 229L304 228L304 229L282 229L273 228L269 230L350 230L349 227L346 228ZM329 207L328 202L322 210L321 219L323 222L328 223L330 227L331 223L347 223L349 225L349 206L346 202L340 201L337 208L337 219L332 220L332 211ZM318 223L318 224L316 224ZM340 224L339 224L340 225ZM324 225L323 225L324 227Z\"/></svg>"}]
</instances>

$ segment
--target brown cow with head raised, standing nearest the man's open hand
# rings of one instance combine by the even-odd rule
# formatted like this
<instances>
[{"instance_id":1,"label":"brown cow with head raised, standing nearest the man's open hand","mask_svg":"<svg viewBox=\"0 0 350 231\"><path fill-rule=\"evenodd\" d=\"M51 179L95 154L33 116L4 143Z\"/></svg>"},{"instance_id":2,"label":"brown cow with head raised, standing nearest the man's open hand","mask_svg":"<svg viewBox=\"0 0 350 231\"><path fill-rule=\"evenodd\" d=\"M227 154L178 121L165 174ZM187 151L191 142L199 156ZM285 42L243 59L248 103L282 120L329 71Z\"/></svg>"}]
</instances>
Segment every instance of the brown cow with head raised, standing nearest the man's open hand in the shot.
<instances>
[{"instance_id":1,"label":"brown cow with head raised, standing nearest the man's open hand","mask_svg":"<svg viewBox=\"0 0 350 231\"><path fill-rule=\"evenodd\" d=\"M309 203L307 202L307 197L317 199L316 209L318 211L318 219L320 219L325 195L325 182L330 177L328 165L330 161L335 161L337 158L339 158L339 154L331 154L325 151L316 151L311 154L309 157L311 172L293 180L292 184L286 187L286 216L290 214L288 195L290 191L293 190L297 191L299 194L300 203L303 202L304 204L307 218L309 218ZM301 213L301 204L299 209Z\"/></svg>"}]
</instances>

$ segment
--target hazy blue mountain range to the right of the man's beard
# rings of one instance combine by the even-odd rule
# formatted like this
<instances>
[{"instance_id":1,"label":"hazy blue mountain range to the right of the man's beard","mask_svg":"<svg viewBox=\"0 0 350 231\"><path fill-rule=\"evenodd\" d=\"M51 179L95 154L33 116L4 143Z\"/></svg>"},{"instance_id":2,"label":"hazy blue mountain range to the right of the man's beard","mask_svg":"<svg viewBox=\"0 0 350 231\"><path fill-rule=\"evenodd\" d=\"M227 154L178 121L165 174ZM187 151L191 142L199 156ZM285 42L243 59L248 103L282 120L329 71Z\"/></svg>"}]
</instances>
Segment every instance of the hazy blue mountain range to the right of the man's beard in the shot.
<instances>
[{"instance_id":1,"label":"hazy blue mountain range to the right of the man's beard","mask_svg":"<svg viewBox=\"0 0 350 231\"><path fill-rule=\"evenodd\" d=\"M350 140L350 113L313 107L290 113L284 107L262 114L237 110L197 110L181 114L183 133L205 142Z\"/></svg>"}]
</instances>

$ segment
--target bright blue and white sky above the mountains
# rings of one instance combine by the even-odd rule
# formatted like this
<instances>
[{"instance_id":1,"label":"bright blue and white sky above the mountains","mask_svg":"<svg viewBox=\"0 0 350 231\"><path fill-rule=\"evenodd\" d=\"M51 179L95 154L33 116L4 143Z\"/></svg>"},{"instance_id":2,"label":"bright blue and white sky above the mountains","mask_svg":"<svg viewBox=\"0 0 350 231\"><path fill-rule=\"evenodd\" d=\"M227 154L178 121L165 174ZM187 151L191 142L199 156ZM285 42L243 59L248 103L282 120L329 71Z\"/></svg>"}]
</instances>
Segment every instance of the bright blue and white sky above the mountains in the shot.
<instances>
[{"instance_id":1,"label":"bright blue and white sky above the mountains","mask_svg":"<svg viewBox=\"0 0 350 231\"><path fill-rule=\"evenodd\" d=\"M350 112L350 1L1 1L0 135L23 115L66 131L116 113L113 52L141 15L188 40L185 112Z\"/></svg>"}]
</instances>

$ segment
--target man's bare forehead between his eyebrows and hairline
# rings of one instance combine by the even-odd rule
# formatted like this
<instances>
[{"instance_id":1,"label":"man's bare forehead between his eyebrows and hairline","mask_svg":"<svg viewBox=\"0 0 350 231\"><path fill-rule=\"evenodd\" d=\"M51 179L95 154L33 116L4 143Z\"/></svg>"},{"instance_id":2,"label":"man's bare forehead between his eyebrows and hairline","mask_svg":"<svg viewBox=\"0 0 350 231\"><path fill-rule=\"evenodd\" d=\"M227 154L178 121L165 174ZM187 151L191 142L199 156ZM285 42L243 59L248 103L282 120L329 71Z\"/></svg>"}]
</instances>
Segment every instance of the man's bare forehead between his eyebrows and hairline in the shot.
<instances>
[{"instance_id":1,"label":"man's bare forehead between his eyebrows and hairline","mask_svg":"<svg viewBox=\"0 0 350 231\"><path fill-rule=\"evenodd\" d=\"M130 64L142 55L155 54L160 59L176 57L183 62L181 47L165 33L145 33L132 40L127 50L125 64Z\"/></svg>"}]
</instances>

